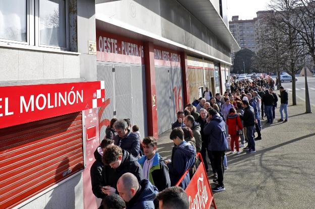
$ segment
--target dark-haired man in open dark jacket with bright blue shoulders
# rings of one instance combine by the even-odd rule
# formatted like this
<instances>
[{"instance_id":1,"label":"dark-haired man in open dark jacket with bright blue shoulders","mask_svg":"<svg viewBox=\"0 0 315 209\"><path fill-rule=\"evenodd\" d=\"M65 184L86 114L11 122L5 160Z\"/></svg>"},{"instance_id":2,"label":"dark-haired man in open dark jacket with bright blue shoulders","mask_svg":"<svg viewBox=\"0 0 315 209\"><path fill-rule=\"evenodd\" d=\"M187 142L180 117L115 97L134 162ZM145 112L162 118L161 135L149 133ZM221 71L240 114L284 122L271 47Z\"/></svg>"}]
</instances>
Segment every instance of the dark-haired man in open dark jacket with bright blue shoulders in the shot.
<instances>
[{"instance_id":1,"label":"dark-haired man in open dark jacket with bright blue shoulders","mask_svg":"<svg viewBox=\"0 0 315 209\"><path fill-rule=\"evenodd\" d=\"M143 138L142 147L144 156L138 162L142 167L144 179L149 180L159 191L162 191L171 186L171 180L165 161L156 152L157 146L158 143L154 137L148 136Z\"/></svg>"}]
</instances>

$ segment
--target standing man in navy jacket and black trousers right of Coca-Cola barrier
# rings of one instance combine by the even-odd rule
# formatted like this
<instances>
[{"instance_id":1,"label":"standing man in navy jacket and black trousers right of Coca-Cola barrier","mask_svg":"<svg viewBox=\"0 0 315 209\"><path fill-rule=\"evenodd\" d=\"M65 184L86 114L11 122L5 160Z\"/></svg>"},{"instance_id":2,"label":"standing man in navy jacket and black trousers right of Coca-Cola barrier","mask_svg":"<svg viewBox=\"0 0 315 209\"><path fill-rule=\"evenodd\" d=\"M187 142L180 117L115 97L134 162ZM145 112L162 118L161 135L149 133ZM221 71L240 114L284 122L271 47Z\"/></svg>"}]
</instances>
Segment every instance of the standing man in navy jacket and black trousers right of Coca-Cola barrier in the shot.
<instances>
[{"instance_id":1,"label":"standing man in navy jacket and black trousers right of Coca-Cola barrier","mask_svg":"<svg viewBox=\"0 0 315 209\"><path fill-rule=\"evenodd\" d=\"M214 168L218 174L218 185L213 188L214 192L224 191L223 174L224 174L224 155L228 149L226 140L225 122L218 112L214 109L208 111L207 124L203 128L203 133L208 135L208 150L211 151Z\"/></svg>"}]
</instances>

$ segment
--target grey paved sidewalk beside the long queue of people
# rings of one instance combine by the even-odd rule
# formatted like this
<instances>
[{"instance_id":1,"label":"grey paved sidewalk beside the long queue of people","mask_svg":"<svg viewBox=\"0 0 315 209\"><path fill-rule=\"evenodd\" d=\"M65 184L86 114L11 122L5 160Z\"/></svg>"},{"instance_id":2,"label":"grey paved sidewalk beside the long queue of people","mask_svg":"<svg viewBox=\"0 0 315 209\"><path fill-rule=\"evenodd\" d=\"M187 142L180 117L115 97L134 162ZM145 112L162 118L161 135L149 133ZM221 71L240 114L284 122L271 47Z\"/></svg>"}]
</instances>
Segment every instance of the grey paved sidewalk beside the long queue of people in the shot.
<instances>
[{"instance_id":1,"label":"grey paved sidewalk beside the long queue of people","mask_svg":"<svg viewBox=\"0 0 315 209\"><path fill-rule=\"evenodd\" d=\"M291 102L292 103L292 102ZM278 107L280 104L278 105ZM305 104L289 106L289 121L265 124L256 153L227 152L226 191L214 194L218 208L313 208L315 204L315 118ZM170 131L158 140L166 159L172 154ZM240 148L242 150L242 148Z\"/></svg>"}]
</instances>

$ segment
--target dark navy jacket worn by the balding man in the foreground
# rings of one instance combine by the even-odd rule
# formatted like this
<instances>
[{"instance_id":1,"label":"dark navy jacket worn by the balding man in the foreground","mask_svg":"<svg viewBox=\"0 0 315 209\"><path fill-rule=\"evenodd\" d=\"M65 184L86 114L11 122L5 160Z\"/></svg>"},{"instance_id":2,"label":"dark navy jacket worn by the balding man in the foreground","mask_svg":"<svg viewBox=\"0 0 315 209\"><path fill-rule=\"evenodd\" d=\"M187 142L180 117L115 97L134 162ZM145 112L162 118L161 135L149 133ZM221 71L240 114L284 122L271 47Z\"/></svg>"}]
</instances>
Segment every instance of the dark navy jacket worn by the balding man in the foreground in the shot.
<instances>
[{"instance_id":1,"label":"dark navy jacket worn by the balding man in the foreground","mask_svg":"<svg viewBox=\"0 0 315 209\"><path fill-rule=\"evenodd\" d=\"M156 194L159 193L158 188L153 186L148 180L139 181L139 189L132 199L126 203L127 208L143 208L141 202L153 201Z\"/></svg>"}]
</instances>

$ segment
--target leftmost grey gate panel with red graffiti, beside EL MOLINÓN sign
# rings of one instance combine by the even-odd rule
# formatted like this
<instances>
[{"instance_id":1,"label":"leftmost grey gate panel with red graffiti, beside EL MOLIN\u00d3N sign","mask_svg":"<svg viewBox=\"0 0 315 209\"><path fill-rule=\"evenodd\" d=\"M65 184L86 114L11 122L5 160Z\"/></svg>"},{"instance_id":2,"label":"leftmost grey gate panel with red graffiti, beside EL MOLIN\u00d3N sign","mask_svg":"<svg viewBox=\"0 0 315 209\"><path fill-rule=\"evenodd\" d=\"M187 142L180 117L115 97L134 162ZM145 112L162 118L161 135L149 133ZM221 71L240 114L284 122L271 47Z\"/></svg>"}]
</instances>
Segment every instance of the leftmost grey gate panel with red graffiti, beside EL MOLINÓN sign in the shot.
<instances>
[{"instance_id":1,"label":"leftmost grey gate panel with red graffiti, beside EL MOLIN\u00d3N sign","mask_svg":"<svg viewBox=\"0 0 315 209\"><path fill-rule=\"evenodd\" d=\"M110 104L107 107L98 108L99 122L103 120L111 120L114 117L114 77L112 64L97 64L97 80L105 81L105 98L110 99ZM106 126L99 127L99 139L105 137Z\"/></svg>"}]
</instances>

